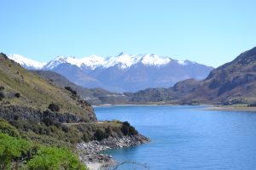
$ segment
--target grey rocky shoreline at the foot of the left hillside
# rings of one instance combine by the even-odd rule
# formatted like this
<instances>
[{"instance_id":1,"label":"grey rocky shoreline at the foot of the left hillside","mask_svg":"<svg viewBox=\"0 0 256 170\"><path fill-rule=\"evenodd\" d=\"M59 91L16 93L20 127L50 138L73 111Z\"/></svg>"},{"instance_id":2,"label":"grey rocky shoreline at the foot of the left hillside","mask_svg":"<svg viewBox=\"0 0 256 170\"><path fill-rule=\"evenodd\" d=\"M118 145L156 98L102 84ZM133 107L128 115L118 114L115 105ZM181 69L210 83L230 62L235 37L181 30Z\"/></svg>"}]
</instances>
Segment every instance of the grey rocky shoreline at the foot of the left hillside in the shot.
<instances>
[{"instance_id":1,"label":"grey rocky shoreline at the foot of the left hillside","mask_svg":"<svg viewBox=\"0 0 256 170\"><path fill-rule=\"evenodd\" d=\"M77 144L79 158L90 170L106 169L117 163L112 156L100 154L103 150L131 147L148 143L149 139L141 134L122 137L109 137L101 141L90 141L89 143Z\"/></svg>"}]
</instances>

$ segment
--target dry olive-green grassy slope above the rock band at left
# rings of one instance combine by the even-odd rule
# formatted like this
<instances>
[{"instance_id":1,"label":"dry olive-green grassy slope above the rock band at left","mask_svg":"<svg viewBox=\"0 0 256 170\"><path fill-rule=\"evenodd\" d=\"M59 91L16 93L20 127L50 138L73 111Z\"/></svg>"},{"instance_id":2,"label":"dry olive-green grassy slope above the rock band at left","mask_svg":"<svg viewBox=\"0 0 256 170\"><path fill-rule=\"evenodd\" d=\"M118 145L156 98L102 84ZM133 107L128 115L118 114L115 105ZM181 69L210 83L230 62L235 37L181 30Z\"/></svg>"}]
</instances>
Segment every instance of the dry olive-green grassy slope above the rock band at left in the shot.
<instances>
[{"instance_id":1,"label":"dry olive-green grassy slope above the rock band at left","mask_svg":"<svg viewBox=\"0 0 256 170\"><path fill-rule=\"evenodd\" d=\"M42 111L46 110L50 103L61 106L60 112L84 114L78 97L63 88L50 84L37 74L26 71L20 65L5 59L0 54L0 86L4 87L5 99L2 104L28 106ZM14 96L20 93L20 98ZM1 101L0 101L1 103Z\"/></svg>"}]
</instances>

